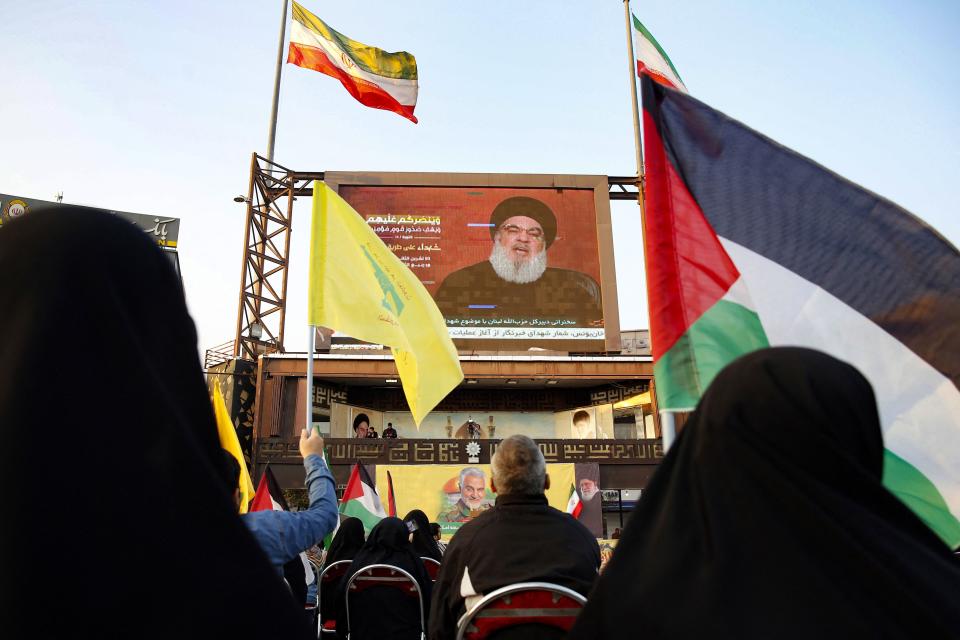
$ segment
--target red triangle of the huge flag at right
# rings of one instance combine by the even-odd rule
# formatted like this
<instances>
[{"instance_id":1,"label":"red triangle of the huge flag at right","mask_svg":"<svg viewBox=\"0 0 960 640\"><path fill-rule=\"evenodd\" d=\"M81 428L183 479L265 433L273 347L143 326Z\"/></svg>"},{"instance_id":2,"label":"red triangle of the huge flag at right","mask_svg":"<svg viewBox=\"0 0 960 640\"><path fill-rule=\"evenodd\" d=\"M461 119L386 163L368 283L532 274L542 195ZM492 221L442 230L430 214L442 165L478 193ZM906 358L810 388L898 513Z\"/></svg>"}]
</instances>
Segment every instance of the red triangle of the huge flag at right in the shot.
<instances>
[{"instance_id":1,"label":"red triangle of the huge flag at right","mask_svg":"<svg viewBox=\"0 0 960 640\"><path fill-rule=\"evenodd\" d=\"M656 360L724 296L740 272L667 158L647 111L643 134L647 298Z\"/></svg>"}]
</instances>

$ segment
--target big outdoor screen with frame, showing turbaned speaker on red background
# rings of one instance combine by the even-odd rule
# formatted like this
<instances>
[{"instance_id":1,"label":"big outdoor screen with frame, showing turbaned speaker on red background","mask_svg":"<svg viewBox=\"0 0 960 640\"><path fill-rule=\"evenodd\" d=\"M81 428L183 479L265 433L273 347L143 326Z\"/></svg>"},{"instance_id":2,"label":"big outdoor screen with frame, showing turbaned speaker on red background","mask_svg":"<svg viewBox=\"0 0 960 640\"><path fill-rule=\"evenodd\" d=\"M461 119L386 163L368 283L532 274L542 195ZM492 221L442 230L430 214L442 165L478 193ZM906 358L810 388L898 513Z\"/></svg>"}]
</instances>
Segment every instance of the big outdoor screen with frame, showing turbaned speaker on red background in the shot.
<instances>
[{"instance_id":1,"label":"big outdoor screen with frame, showing turbaned speaker on red background","mask_svg":"<svg viewBox=\"0 0 960 640\"><path fill-rule=\"evenodd\" d=\"M371 174L328 182L338 178L331 186L419 276L459 347L610 349L619 327L609 322L617 313L605 179L598 194L582 179L555 186L558 176L529 177L553 185L544 188L386 175L421 184Z\"/></svg>"}]
</instances>

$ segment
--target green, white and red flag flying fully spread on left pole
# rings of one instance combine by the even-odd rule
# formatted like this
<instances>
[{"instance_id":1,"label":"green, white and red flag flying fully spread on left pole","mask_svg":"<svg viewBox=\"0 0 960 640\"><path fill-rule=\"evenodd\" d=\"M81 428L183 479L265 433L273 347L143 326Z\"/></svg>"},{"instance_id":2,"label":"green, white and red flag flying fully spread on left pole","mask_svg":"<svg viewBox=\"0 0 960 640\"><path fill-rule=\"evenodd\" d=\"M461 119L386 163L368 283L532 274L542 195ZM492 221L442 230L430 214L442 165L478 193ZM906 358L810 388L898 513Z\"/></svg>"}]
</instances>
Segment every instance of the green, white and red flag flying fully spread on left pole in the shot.
<instances>
[{"instance_id":1,"label":"green, white and red flag flying fully spread on left pole","mask_svg":"<svg viewBox=\"0 0 960 640\"><path fill-rule=\"evenodd\" d=\"M416 122L417 60L351 40L296 2L287 62L339 80L362 104Z\"/></svg>"}]
</instances>

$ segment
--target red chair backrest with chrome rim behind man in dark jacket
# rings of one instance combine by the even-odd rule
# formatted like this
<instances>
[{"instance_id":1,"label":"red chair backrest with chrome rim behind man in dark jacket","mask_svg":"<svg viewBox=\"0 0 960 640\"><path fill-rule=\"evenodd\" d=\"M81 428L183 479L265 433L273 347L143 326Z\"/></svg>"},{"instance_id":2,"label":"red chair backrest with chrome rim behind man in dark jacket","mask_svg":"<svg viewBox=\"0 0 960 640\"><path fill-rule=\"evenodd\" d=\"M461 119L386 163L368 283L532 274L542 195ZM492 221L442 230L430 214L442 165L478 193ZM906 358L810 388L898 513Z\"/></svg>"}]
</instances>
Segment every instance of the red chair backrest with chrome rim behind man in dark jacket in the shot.
<instances>
[{"instance_id":1,"label":"red chair backrest with chrome rim behind man in dark jacket","mask_svg":"<svg viewBox=\"0 0 960 640\"><path fill-rule=\"evenodd\" d=\"M491 591L457 623L457 640L480 640L521 624L569 631L587 603L582 595L549 582L518 582Z\"/></svg>"}]
</instances>

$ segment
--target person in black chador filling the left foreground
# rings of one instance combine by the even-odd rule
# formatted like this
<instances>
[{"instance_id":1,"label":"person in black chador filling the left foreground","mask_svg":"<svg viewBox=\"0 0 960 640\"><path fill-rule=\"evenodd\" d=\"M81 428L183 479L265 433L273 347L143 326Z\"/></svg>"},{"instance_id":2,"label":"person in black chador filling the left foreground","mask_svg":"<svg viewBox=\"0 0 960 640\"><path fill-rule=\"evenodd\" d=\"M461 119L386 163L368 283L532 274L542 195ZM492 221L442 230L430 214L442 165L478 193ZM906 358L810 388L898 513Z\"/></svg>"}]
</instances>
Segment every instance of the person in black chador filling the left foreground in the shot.
<instances>
[{"instance_id":1,"label":"person in black chador filling the left foreground","mask_svg":"<svg viewBox=\"0 0 960 640\"><path fill-rule=\"evenodd\" d=\"M147 234L84 207L4 224L0 336L6 638L312 637L223 481L197 333Z\"/></svg>"}]
</instances>

